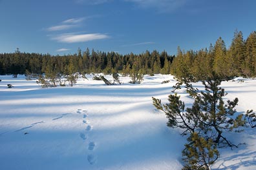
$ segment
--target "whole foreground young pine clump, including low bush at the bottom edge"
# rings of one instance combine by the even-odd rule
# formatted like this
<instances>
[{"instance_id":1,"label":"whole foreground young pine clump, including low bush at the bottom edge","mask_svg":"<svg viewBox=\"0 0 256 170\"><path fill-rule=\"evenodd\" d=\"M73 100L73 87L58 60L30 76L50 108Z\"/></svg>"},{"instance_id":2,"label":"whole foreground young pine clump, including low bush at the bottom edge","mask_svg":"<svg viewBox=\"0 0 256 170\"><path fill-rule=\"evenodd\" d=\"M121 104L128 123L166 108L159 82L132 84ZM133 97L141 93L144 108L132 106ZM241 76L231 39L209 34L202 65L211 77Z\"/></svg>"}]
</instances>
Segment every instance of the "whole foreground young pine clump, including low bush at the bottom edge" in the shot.
<instances>
[{"instance_id":1,"label":"whole foreground young pine clump, including low bush at the bottom edge","mask_svg":"<svg viewBox=\"0 0 256 170\"><path fill-rule=\"evenodd\" d=\"M186 82L187 93L195 99L191 108L185 109L177 93L169 95L167 104L153 97L153 105L164 111L168 118L167 126L179 127L183 129L182 135L190 135L182 152L187 164L184 170L210 169L210 165L219 157L217 144L235 146L224 137L224 132L246 125L242 114L234 115L238 99L228 100L225 104L223 98L226 93L219 87L222 80L215 73L212 75L211 79L202 81L205 91L198 91ZM251 117L254 118L255 114L251 114Z\"/></svg>"}]
</instances>

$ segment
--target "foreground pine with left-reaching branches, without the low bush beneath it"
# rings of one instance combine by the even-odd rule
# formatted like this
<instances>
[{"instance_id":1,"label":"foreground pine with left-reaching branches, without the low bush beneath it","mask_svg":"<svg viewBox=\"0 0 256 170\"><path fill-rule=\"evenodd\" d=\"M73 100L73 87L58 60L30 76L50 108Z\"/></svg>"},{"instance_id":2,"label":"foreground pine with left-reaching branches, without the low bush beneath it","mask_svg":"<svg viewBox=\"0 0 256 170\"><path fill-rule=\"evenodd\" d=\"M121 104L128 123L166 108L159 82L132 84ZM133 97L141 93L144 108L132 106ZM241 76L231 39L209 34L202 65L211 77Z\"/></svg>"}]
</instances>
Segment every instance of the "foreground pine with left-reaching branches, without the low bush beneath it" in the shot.
<instances>
[{"instance_id":1,"label":"foreground pine with left-reaching branches, without the low bush beneath it","mask_svg":"<svg viewBox=\"0 0 256 170\"><path fill-rule=\"evenodd\" d=\"M167 126L184 129L182 135L197 132L206 140L211 138L217 144L224 143L233 147L235 145L224 137L223 132L245 126L246 122L242 114L234 118L237 98L224 103L226 93L219 87L221 81L222 79L213 73L213 77L202 81L205 91L198 91L191 84L186 84L187 92L195 99L193 106L186 108L186 111L184 102L176 93L169 95L169 104L162 105L161 100L153 98L153 105L167 115Z\"/></svg>"}]
</instances>

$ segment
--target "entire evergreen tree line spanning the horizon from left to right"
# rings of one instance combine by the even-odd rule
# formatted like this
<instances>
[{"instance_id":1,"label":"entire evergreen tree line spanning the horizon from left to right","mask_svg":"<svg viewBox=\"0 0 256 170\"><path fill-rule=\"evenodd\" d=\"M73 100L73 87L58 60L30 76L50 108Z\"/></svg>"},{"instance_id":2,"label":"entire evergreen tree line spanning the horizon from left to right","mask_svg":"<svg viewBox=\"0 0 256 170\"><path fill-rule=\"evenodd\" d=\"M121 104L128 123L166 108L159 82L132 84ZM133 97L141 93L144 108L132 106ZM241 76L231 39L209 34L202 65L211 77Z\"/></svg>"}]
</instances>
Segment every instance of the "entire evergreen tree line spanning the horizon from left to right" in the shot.
<instances>
[{"instance_id":1,"label":"entire evergreen tree line spanning the horizon from left to right","mask_svg":"<svg viewBox=\"0 0 256 170\"><path fill-rule=\"evenodd\" d=\"M144 74L162 73L175 75L177 79L190 77L194 81L206 80L214 71L226 79L235 76L256 77L256 32L244 39L242 32L234 33L231 45L221 37L214 46L201 50L181 50L176 56L167 52L146 51L122 55L116 52L95 52L87 48L70 55L50 55L41 53L0 53L0 74L63 73L69 65L74 73L123 73L131 70Z\"/></svg>"}]
</instances>

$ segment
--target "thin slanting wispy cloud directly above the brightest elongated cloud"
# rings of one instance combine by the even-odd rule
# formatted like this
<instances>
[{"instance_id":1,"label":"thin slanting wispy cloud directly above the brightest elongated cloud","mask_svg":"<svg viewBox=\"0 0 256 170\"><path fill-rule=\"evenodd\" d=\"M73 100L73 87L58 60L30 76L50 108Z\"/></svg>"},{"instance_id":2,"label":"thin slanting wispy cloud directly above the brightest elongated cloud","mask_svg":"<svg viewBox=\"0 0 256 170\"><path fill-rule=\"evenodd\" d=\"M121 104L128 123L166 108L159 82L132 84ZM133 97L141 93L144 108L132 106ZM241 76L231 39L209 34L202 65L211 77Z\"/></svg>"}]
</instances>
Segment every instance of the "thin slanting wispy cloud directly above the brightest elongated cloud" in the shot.
<instances>
[{"instance_id":1,"label":"thin slanting wispy cloud directly above the brightest elongated cloud","mask_svg":"<svg viewBox=\"0 0 256 170\"><path fill-rule=\"evenodd\" d=\"M85 20L85 17L80 18L72 18L62 21L60 24L56 26L50 26L47 28L47 31L61 31L61 30L69 30L70 28L74 28L80 25L80 23Z\"/></svg>"}]
</instances>

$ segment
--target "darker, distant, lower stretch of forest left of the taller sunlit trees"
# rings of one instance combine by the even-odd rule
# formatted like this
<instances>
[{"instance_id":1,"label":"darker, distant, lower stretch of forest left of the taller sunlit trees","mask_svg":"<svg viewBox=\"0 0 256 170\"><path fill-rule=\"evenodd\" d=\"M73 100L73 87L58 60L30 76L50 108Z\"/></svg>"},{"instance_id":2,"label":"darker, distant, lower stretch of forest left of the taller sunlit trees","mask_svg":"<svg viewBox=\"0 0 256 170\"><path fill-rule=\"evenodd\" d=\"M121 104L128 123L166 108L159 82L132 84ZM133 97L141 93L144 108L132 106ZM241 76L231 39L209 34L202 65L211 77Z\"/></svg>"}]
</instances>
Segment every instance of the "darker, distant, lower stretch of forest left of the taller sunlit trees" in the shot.
<instances>
[{"instance_id":1,"label":"darker, distant, lower stretch of forest left of the taller sunlit trees","mask_svg":"<svg viewBox=\"0 0 256 170\"><path fill-rule=\"evenodd\" d=\"M131 70L142 73L170 73L174 55L154 50L145 53L120 55L116 52L95 52L87 48L84 52L72 55L50 55L41 53L21 53L17 48L14 53L0 53L0 74L42 74L47 72L63 73L70 65L74 73L124 73Z\"/></svg>"}]
</instances>

